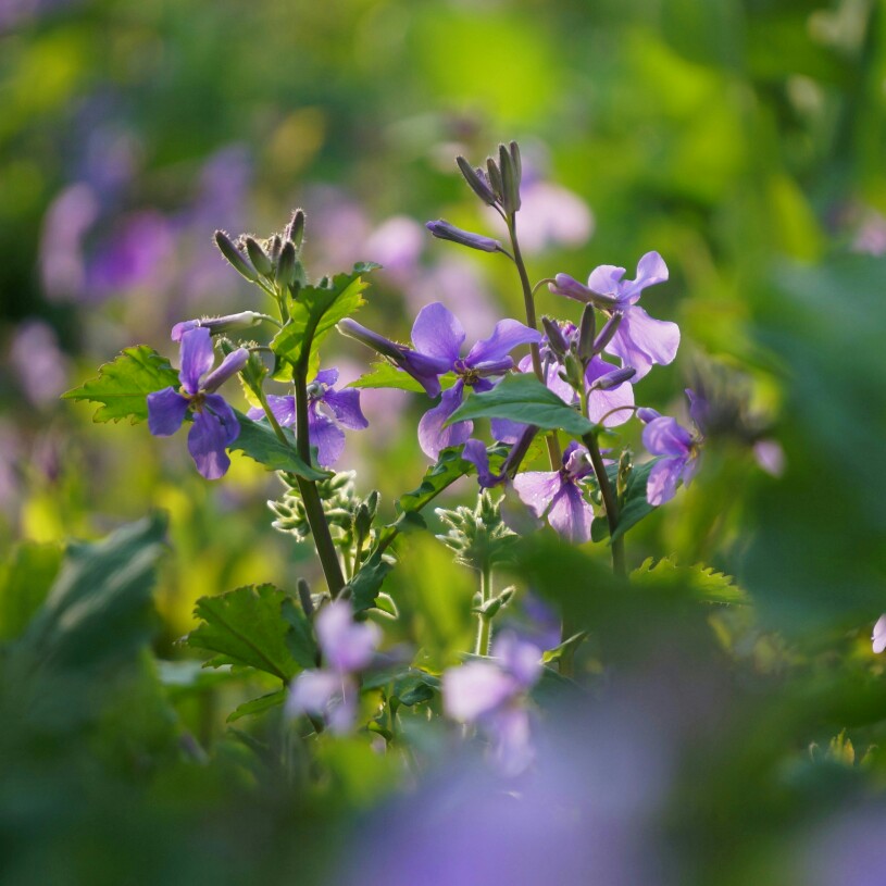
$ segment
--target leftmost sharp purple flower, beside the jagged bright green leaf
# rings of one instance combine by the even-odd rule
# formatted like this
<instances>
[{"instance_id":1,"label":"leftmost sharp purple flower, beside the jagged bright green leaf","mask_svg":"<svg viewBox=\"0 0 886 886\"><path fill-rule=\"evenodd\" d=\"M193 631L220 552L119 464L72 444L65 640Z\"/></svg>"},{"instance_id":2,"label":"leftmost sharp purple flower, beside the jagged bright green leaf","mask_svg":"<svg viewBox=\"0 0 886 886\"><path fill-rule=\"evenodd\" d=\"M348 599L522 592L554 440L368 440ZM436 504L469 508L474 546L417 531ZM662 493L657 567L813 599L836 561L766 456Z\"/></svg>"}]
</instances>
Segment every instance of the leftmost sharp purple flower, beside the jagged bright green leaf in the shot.
<instances>
[{"instance_id":1,"label":"leftmost sharp purple flower, beside the jagged bright green leaf","mask_svg":"<svg viewBox=\"0 0 886 886\"><path fill-rule=\"evenodd\" d=\"M219 479L230 465L225 449L239 436L240 424L234 410L214 391L244 367L249 351L238 348L212 371L212 336L203 327L186 332L180 349L182 388L176 391L169 387L148 395L148 427L155 437L169 437L182 427L188 411L192 412L188 451L207 479Z\"/></svg>"}]
</instances>

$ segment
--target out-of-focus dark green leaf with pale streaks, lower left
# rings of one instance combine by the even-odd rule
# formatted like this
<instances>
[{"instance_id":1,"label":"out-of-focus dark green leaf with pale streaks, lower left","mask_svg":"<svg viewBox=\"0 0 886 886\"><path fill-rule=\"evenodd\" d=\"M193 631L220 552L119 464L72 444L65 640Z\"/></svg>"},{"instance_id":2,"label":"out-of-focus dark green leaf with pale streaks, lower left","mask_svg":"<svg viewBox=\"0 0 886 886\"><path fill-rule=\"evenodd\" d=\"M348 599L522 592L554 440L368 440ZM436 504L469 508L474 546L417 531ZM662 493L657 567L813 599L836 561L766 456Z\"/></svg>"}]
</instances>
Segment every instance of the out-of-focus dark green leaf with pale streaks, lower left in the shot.
<instances>
[{"instance_id":1,"label":"out-of-focus dark green leaf with pale streaks, lower left","mask_svg":"<svg viewBox=\"0 0 886 886\"><path fill-rule=\"evenodd\" d=\"M103 541L71 545L22 649L42 666L82 669L135 654L154 628L151 589L165 529L155 515Z\"/></svg>"}]
</instances>

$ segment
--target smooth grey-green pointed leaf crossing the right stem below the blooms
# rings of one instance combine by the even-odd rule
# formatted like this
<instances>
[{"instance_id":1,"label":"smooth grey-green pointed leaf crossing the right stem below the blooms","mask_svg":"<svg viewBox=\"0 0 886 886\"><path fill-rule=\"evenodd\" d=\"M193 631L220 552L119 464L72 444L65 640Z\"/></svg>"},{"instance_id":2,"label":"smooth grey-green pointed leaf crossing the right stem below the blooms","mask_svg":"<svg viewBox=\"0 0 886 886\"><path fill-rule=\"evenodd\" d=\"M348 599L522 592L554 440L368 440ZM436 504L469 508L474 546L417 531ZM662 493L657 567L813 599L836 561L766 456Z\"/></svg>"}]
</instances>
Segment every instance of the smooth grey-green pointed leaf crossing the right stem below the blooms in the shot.
<instances>
[{"instance_id":1,"label":"smooth grey-green pointed leaf crossing the right stem below the blooms","mask_svg":"<svg viewBox=\"0 0 886 886\"><path fill-rule=\"evenodd\" d=\"M449 416L447 425L467 419L509 419L544 430L565 430L582 437L595 425L564 403L531 373L506 376L492 390L471 394Z\"/></svg>"}]
</instances>

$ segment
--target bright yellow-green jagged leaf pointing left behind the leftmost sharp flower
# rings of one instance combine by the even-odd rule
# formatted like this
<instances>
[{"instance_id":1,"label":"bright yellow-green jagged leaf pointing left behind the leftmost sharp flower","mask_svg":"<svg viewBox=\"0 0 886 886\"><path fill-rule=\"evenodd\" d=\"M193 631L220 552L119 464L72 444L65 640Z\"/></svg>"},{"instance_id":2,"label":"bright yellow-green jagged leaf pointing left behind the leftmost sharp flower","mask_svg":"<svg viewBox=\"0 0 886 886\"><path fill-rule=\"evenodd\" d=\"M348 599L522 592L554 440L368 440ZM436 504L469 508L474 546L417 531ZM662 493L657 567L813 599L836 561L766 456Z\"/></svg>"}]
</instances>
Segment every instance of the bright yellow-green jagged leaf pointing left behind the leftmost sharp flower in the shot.
<instances>
[{"instance_id":1,"label":"bright yellow-green jagged leaf pointing left behind the leftmost sharp flower","mask_svg":"<svg viewBox=\"0 0 886 886\"><path fill-rule=\"evenodd\" d=\"M99 369L97 378L68 390L62 399L101 403L92 417L95 422L129 419L137 424L148 419L149 394L170 386L178 388L178 373L170 361L153 348L138 345L126 348L113 362Z\"/></svg>"}]
</instances>

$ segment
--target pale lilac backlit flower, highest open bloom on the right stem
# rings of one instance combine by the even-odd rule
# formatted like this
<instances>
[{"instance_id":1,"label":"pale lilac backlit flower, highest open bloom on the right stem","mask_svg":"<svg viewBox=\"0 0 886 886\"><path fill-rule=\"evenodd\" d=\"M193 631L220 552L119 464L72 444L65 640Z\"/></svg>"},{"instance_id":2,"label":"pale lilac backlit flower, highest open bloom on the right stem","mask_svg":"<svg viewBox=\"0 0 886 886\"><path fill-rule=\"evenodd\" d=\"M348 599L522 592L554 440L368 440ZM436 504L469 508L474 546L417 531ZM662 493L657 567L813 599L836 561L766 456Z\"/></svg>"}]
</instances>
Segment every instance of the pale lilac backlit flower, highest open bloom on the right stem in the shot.
<instances>
[{"instance_id":1,"label":"pale lilac backlit flower, highest open bloom on the right stem","mask_svg":"<svg viewBox=\"0 0 886 886\"><path fill-rule=\"evenodd\" d=\"M624 275L624 267L601 264L590 272L587 286L569 274L558 274L550 288L577 301L594 302L610 316L621 315L621 325L606 350L620 358L623 365L635 369L640 379L653 363L665 365L673 361L679 346L679 327L676 323L652 320L637 305L647 286L667 279L667 265L658 252L647 252L637 262L635 279L623 280Z\"/></svg>"}]
</instances>

